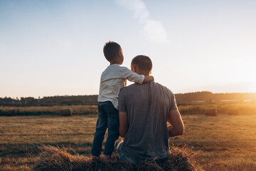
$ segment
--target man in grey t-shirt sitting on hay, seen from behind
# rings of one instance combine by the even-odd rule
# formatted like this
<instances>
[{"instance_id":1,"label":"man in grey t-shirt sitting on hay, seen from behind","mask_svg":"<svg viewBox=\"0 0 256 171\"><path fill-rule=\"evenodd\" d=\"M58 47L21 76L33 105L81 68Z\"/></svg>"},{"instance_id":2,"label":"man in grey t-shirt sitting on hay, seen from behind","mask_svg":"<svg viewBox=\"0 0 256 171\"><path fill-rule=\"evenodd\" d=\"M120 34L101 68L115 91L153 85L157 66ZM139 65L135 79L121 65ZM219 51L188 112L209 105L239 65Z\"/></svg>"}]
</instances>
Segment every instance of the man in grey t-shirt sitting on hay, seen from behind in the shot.
<instances>
[{"instance_id":1,"label":"man in grey t-shirt sitting on hay, seen from behind","mask_svg":"<svg viewBox=\"0 0 256 171\"><path fill-rule=\"evenodd\" d=\"M152 63L147 56L136 56L131 68L135 73L149 76ZM167 126L167 122L171 125ZM154 81L121 89L119 134L124 141L117 145L120 160L165 160L170 155L169 138L183 135L183 131L171 90Z\"/></svg>"}]
</instances>

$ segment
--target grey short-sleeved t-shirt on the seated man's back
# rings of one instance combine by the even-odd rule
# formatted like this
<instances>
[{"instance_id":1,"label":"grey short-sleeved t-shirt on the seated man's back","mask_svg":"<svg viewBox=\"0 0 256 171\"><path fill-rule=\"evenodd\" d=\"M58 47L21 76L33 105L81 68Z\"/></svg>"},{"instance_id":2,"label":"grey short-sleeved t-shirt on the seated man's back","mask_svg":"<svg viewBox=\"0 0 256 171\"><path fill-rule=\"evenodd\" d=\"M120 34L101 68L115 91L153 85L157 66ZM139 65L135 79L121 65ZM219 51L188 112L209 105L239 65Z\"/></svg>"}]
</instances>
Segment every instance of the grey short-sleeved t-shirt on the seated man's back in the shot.
<instances>
[{"instance_id":1,"label":"grey short-sleeved t-shirt on the seated man's back","mask_svg":"<svg viewBox=\"0 0 256 171\"><path fill-rule=\"evenodd\" d=\"M131 160L161 160L169 156L167 119L176 110L174 93L151 81L135 83L119 93L119 112L127 113L128 131L122 152Z\"/></svg>"}]
</instances>

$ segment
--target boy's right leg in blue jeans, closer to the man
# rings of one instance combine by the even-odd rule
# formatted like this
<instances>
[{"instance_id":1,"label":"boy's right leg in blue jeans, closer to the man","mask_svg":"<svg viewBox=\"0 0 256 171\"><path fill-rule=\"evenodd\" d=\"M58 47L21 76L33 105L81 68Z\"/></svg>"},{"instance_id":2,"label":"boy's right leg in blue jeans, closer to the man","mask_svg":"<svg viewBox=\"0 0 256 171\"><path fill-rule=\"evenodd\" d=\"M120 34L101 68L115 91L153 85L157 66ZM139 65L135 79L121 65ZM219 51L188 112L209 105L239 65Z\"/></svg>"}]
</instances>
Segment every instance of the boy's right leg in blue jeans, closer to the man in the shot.
<instances>
[{"instance_id":1,"label":"boy's right leg in blue jeans, closer to the man","mask_svg":"<svg viewBox=\"0 0 256 171\"><path fill-rule=\"evenodd\" d=\"M108 133L104 155L112 155L114 142L119 138L119 113L111 102L105 105L105 111L107 112Z\"/></svg>"}]
</instances>

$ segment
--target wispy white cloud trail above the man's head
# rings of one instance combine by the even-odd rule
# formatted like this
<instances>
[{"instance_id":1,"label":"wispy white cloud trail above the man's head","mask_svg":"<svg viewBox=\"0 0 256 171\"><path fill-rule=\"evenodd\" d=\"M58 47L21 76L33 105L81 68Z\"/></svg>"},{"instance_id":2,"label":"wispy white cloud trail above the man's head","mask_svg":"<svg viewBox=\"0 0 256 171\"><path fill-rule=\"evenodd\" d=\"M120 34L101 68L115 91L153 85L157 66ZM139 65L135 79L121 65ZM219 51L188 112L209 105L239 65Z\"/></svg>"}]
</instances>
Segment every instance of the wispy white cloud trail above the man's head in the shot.
<instances>
[{"instance_id":1,"label":"wispy white cloud trail above the man's head","mask_svg":"<svg viewBox=\"0 0 256 171\"><path fill-rule=\"evenodd\" d=\"M149 11L142 0L117 0L118 4L134 13L134 18L144 25L143 33L153 43L168 43L167 34L161 21L149 18Z\"/></svg>"}]
</instances>

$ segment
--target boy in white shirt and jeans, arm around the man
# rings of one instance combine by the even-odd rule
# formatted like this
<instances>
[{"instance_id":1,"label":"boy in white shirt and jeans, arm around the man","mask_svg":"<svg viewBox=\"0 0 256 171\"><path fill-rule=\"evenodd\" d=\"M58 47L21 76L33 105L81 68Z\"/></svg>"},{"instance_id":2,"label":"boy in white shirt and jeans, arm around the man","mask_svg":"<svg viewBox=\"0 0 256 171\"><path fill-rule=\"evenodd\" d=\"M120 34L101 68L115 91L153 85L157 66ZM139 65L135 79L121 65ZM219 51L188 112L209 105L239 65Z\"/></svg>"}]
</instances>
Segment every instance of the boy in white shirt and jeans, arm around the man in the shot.
<instances>
[{"instance_id":1,"label":"boy in white shirt and jeans, arm around the man","mask_svg":"<svg viewBox=\"0 0 256 171\"><path fill-rule=\"evenodd\" d=\"M124 56L122 48L113 41L105 43L104 56L110 62L100 78L100 93L98 96L98 119L95 137L92 142L92 156L100 157L102 142L108 128L107 141L104 150L104 159L110 160L114 150L114 142L119 138L118 94L126 86L126 80L135 83L154 81L153 76L144 76L133 73L122 65Z\"/></svg>"}]
</instances>

